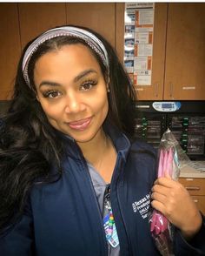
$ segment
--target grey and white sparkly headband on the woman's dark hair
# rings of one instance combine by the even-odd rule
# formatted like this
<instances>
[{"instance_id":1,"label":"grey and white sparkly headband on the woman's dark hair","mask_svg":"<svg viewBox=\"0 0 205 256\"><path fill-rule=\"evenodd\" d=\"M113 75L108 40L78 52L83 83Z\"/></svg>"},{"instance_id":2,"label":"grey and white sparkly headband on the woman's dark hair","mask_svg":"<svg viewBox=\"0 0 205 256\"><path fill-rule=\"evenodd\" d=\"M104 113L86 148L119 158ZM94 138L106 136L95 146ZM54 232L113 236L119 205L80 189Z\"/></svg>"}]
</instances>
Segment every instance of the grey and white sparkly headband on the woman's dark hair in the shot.
<instances>
[{"instance_id":1,"label":"grey and white sparkly headband on the woman's dark hair","mask_svg":"<svg viewBox=\"0 0 205 256\"><path fill-rule=\"evenodd\" d=\"M102 41L87 30L71 26L64 26L44 32L41 36L37 37L36 40L32 44L30 44L28 49L25 51L22 70L23 77L29 86L30 78L28 75L28 66L30 63L30 57L35 53L40 44L43 44L45 41L50 40L51 38L62 36L77 37L83 39L83 41L88 44L91 49L96 51L96 54L98 54L99 57L101 57L102 63L105 65L107 71L109 72L108 52L102 44Z\"/></svg>"}]
</instances>

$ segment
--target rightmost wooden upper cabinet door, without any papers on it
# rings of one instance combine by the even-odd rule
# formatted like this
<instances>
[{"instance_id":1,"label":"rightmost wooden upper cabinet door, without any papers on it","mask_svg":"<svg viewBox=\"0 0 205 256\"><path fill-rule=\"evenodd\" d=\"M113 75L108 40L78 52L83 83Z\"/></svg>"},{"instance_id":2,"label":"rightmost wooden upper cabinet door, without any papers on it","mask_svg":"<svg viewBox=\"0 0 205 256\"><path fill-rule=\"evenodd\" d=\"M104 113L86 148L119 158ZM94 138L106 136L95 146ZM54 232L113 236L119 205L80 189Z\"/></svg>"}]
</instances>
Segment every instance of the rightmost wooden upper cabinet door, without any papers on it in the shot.
<instances>
[{"instance_id":1,"label":"rightmost wooden upper cabinet door, without any papers on it","mask_svg":"<svg viewBox=\"0 0 205 256\"><path fill-rule=\"evenodd\" d=\"M164 99L205 99L204 35L204 3L169 3Z\"/></svg>"}]
</instances>

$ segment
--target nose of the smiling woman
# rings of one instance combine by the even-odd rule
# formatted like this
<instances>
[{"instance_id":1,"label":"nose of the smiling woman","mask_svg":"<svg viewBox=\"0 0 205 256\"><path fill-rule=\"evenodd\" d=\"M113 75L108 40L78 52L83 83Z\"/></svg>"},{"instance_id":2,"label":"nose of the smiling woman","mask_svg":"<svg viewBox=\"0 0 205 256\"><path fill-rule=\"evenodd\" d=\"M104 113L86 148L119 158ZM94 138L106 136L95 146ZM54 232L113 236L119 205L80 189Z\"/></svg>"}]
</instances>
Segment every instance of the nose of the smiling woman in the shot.
<instances>
[{"instance_id":1,"label":"nose of the smiling woman","mask_svg":"<svg viewBox=\"0 0 205 256\"><path fill-rule=\"evenodd\" d=\"M65 112L66 113L77 113L85 109L83 99L76 92L70 92L66 97Z\"/></svg>"}]
</instances>

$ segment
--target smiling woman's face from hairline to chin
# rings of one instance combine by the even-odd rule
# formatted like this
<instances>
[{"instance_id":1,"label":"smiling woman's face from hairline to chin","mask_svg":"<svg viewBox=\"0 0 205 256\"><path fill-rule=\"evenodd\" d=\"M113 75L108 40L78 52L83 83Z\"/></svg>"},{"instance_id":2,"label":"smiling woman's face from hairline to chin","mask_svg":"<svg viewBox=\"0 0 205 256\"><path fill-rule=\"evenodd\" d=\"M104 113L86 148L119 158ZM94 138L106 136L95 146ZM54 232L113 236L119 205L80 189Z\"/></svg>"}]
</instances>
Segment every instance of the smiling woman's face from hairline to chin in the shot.
<instances>
[{"instance_id":1,"label":"smiling woman's face from hairline to chin","mask_svg":"<svg viewBox=\"0 0 205 256\"><path fill-rule=\"evenodd\" d=\"M101 134L109 109L107 85L86 46L69 44L44 54L36 61L34 82L50 125L78 143Z\"/></svg>"}]
</instances>

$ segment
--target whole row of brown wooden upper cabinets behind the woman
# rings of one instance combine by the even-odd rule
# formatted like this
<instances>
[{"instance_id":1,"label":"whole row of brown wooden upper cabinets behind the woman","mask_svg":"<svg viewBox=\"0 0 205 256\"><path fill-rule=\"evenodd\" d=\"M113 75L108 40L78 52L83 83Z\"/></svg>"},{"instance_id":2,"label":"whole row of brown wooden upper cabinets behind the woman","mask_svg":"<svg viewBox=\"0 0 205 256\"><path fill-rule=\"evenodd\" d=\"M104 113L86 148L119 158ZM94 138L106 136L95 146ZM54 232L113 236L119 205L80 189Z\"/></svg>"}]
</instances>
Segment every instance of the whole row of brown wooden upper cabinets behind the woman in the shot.
<instances>
[{"instance_id":1,"label":"whole row of brown wooden upper cabinets behind the woman","mask_svg":"<svg viewBox=\"0 0 205 256\"><path fill-rule=\"evenodd\" d=\"M0 100L10 98L24 45L62 24L106 37L123 62L124 3L0 3ZM10 18L12 17L12 18ZM205 3L155 3L152 81L142 100L205 100Z\"/></svg>"}]
</instances>

